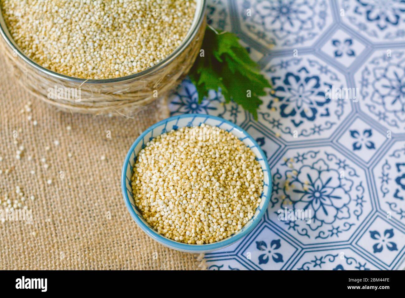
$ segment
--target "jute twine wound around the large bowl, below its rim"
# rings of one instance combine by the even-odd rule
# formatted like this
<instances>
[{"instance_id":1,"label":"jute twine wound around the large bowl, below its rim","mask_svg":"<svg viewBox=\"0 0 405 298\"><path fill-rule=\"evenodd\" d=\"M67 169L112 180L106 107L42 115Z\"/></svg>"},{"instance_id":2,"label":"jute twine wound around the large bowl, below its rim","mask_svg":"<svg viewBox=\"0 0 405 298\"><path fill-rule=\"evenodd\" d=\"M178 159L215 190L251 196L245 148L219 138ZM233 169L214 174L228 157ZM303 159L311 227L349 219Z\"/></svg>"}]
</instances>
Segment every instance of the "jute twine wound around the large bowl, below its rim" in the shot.
<instances>
[{"instance_id":1,"label":"jute twine wound around the large bowl, below its rim","mask_svg":"<svg viewBox=\"0 0 405 298\"><path fill-rule=\"evenodd\" d=\"M14 75L23 88L36 98L62 111L96 115L132 115L156 99L165 97L185 77L200 51L205 23L204 18L194 39L165 67L138 78L116 83L95 84L86 81L79 83L52 77L17 56L3 38L0 38L0 50L9 57ZM72 96L49 98L49 88L63 88L63 90L79 88L81 96L79 100Z\"/></svg>"}]
</instances>

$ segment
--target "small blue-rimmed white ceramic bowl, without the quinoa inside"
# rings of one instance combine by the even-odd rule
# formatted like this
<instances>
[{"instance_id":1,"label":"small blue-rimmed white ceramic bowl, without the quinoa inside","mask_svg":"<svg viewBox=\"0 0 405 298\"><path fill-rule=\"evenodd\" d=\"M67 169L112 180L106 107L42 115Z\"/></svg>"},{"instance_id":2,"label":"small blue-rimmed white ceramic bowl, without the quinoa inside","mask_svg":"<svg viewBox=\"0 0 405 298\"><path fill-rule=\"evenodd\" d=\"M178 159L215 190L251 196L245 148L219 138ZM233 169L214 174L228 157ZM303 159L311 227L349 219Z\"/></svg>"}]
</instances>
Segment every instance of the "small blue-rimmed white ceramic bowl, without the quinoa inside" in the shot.
<instances>
[{"instance_id":1,"label":"small blue-rimmed white ceramic bowl, without the quinoa inside","mask_svg":"<svg viewBox=\"0 0 405 298\"><path fill-rule=\"evenodd\" d=\"M209 243L209 244L187 244L182 242L177 242L169 238L164 237L159 234L155 229L153 229L142 217L141 212L136 208L134 198L132 196L131 189L131 177L132 169L136 161L137 154L145 147L145 144L162 133L171 131L172 129L176 130L185 126L200 126L202 123L217 126L223 130L229 131L230 133L237 136L246 146L251 148L251 150L256 155L258 162L260 163L263 174L264 174L264 185L263 193L261 195L262 201L256 209L256 213L252 219L247 222L247 224L239 230L237 233L231 235L224 240ZM227 247L234 242L237 242L239 239L246 236L252 229L259 223L262 219L264 213L266 212L267 205L270 201L271 195L271 173L269 164L267 163L266 156L264 152L260 149L256 141L243 129L239 126L224 120L219 117L203 115L203 114L185 114L181 116L174 116L167 118L166 120L160 121L151 127L149 127L144 133L142 133L132 144L126 159L124 161L124 166L122 167L121 175L121 187L122 195L124 196L125 204L130 212L132 218L136 223L143 229L143 231L148 234L151 238L163 244L166 247L176 249L178 251L190 252L190 253L207 253L210 251L215 251L217 249L222 249Z\"/></svg>"}]
</instances>

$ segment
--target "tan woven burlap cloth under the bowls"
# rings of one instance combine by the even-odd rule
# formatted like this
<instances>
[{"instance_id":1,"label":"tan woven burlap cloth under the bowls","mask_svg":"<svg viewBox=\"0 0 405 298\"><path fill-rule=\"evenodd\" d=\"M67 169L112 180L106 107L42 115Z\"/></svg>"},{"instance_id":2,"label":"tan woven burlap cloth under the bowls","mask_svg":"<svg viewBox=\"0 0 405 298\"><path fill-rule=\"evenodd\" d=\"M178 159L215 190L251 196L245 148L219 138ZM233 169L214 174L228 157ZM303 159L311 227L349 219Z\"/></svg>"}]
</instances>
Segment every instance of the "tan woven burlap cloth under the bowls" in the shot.
<instances>
[{"instance_id":1,"label":"tan woven burlap cloth under the bowls","mask_svg":"<svg viewBox=\"0 0 405 298\"><path fill-rule=\"evenodd\" d=\"M128 149L166 111L158 103L134 119L55 111L20 87L0 55L0 200L5 194L13 200L17 185L26 197L35 196L26 202L33 224L0 223L0 269L199 269L201 256L149 238L122 198L120 174ZM21 113L28 101L32 111ZM17 160L21 145L25 149Z\"/></svg>"}]
</instances>

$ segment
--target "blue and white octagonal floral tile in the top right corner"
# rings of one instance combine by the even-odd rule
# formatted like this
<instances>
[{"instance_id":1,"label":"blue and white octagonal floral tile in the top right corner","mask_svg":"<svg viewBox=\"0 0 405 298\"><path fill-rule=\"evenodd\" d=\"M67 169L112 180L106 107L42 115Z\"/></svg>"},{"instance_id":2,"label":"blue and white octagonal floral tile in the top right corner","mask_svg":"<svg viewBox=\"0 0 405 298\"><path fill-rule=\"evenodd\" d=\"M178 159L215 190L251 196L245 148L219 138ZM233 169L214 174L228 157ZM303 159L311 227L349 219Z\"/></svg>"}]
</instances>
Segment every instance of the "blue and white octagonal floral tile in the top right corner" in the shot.
<instances>
[{"instance_id":1,"label":"blue and white octagonal floral tile in the top right corner","mask_svg":"<svg viewBox=\"0 0 405 298\"><path fill-rule=\"evenodd\" d=\"M405 41L405 3L401 0L340 0L343 23L374 43ZM343 11L342 11L343 9Z\"/></svg>"}]
</instances>

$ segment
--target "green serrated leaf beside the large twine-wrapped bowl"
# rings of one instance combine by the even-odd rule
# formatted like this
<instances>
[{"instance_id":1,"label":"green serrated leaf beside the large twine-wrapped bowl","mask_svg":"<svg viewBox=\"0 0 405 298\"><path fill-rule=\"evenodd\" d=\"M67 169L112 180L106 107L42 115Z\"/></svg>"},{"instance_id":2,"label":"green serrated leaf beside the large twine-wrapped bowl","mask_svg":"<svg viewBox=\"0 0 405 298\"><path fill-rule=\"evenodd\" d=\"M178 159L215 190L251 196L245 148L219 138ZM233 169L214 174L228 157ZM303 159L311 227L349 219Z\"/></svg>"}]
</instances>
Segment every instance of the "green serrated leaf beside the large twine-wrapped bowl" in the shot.
<instances>
[{"instance_id":1,"label":"green serrated leaf beside the large twine-wrapped bowl","mask_svg":"<svg viewBox=\"0 0 405 298\"><path fill-rule=\"evenodd\" d=\"M262 103L259 96L266 95L264 88L271 85L240 45L239 38L233 33L219 33L207 27L202 45L204 55L197 57L189 73L197 88L198 101L201 103L209 90L221 89L226 103L233 100L257 120L257 109Z\"/></svg>"}]
</instances>

